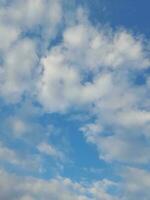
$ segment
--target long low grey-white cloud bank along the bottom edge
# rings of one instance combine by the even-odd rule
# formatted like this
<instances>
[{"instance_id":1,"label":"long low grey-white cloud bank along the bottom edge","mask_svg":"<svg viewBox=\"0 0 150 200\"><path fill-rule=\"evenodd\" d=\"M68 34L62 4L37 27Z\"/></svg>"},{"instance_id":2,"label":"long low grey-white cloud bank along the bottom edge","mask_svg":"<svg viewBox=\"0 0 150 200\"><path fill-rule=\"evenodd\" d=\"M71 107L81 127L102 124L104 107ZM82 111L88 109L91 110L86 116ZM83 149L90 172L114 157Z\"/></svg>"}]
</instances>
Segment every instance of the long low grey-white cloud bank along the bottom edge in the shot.
<instances>
[{"instance_id":1,"label":"long low grey-white cloud bank along the bottom edge","mask_svg":"<svg viewBox=\"0 0 150 200\"><path fill-rule=\"evenodd\" d=\"M93 185L73 182L68 178L58 177L41 180L32 177L19 177L0 171L0 198L6 200L116 200L107 193L115 183L102 180ZM59 192L58 192L59 191Z\"/></svg>"}]
</instances>

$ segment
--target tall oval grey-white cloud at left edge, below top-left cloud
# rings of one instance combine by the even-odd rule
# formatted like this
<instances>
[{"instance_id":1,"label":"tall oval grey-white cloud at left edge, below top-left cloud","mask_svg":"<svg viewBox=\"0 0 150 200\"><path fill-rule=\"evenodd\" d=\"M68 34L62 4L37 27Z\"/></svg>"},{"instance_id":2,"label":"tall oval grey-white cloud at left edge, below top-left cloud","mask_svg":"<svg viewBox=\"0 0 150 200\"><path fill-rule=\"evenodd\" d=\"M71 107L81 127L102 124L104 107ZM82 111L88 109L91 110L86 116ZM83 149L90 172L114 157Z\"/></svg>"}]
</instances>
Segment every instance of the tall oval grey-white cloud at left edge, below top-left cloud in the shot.
<instances>
[{"instance_id":1,"label":"tall oval grey-white cloud at left edge, below top-left cloud","mask_svg":"<svg viewBox=\"0 0 150 200\"><path fill-rule=\"evenodd\" d=\"M35 44L29 39L18 41L4 58L1 95L8 102L15 102L32 87L33 70L37 64Z\"/></svg>"}]
</instances>

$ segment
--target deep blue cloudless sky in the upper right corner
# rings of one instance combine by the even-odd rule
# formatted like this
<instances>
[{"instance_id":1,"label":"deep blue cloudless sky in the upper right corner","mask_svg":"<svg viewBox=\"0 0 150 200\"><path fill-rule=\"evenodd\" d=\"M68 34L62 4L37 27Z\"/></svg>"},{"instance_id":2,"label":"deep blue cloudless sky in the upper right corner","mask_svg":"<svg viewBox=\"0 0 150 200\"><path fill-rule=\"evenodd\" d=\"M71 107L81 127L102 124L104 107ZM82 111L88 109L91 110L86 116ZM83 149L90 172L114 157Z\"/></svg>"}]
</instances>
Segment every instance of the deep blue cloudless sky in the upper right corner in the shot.
<instances>
[{"instance_id":1,"label":"deep blue cloudless sky in the upper right corner","mask_svg":"<svg viewBox=\"0 0 150 200\"><path fill-rule=\"evenodd\" d=\"M76 0L87 7L95 23L109 24L112 28L127 28L149 38L149 0Z\"/></svg>"}]
</instances>

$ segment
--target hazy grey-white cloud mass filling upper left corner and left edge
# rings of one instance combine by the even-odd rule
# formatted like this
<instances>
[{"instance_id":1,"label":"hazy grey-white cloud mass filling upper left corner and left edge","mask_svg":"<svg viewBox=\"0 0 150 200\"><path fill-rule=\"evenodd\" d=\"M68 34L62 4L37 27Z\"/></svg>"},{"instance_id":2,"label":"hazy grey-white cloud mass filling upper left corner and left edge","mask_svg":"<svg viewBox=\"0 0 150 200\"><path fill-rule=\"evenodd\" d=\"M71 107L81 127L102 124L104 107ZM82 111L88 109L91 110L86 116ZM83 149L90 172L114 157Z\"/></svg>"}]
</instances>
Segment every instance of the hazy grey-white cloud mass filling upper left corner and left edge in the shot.
<instances>
[{"instance_id":1,"label":"hazy grey-white cloud mass filling upper left corner and left edge","mask_svg":"<svg viewBox=\"0 0 150 200\"><path fill-rule=\"evenodd\" d=\"M39 73L37 54L46 51L61 19L59 1L14 0L1 6L0 90L6 101L19 101L32 88Z\"/></svg>"}]
</instances>

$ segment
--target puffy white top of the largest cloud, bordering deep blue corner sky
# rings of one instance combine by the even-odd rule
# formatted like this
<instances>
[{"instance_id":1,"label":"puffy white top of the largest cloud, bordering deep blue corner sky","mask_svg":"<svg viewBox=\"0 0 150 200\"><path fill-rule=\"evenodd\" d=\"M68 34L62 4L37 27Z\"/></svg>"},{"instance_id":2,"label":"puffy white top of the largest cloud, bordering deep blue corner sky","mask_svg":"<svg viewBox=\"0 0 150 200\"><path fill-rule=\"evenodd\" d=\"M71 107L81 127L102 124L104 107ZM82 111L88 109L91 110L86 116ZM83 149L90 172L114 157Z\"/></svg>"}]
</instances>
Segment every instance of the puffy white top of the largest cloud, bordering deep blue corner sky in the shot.
<instances>
[{"instance_id":1,"label":"puffy white top of the largest cloud, bordering deep blue corner sky","mask_svg":"<svg viewBox=\"0 0 150 200\"><path fill-rule=\"evenodd\" d=\"M89 22L79 23L64 32L64 43L68 59L82 67L141 69L150 64L142 40L126 30L111 32L105 27L98 29Z\"/></svg>"}]
</instances>

